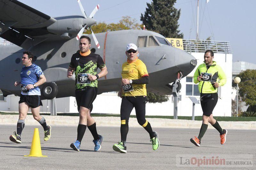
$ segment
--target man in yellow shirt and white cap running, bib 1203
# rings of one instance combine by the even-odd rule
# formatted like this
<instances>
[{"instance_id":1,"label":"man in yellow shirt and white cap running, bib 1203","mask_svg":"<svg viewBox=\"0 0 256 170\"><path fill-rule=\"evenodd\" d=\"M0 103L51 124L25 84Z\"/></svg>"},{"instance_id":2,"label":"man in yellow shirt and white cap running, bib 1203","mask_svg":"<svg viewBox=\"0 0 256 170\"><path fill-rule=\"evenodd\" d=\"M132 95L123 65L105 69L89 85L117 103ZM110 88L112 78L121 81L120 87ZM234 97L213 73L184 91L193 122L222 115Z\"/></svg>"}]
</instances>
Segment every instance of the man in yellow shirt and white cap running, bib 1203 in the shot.
<instances>
[{"instance_id":1,"label":"man in yellow shirt and white cap running, bib 1203","mask_svg":"<svg viewBox=\"0 0 256 170\"><path fill-rule=\"evenodd\" d=\"M118 96L122 98L121 103L121 142L113 145L113 149L120 153L126 153L126 137L129 126L128 121L133 107L135 107L138 123L147 130L153 150L159 148L158 133L153 132L150 123L145 119L146 114L146 84L149 76L146 65L138 59L139 52L135 44L128 44L125 54L127 62L122 65L122 89Z\"/></svg>"}]
</instances>

